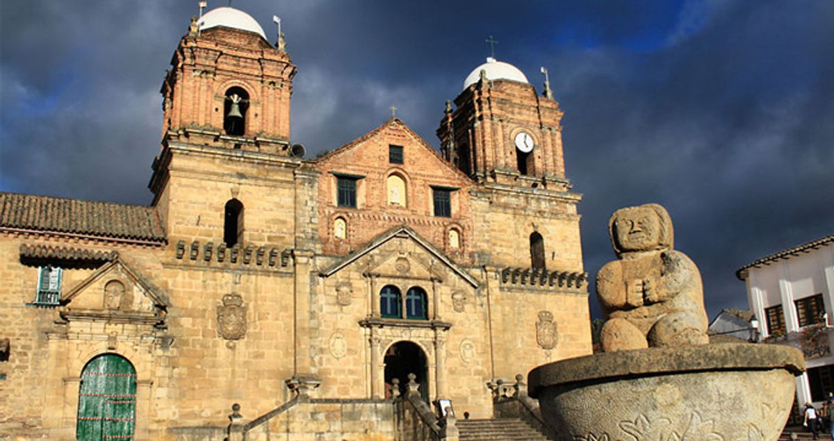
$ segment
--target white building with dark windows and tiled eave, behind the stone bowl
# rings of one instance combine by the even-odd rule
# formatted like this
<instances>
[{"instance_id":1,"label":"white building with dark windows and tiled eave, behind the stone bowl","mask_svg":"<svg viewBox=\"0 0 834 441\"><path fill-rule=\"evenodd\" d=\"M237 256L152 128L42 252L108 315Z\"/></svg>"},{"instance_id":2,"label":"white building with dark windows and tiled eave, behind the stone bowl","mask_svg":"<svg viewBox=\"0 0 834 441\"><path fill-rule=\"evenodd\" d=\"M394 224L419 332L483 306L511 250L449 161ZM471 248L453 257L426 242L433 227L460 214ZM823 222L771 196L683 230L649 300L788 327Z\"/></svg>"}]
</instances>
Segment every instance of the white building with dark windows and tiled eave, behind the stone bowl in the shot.
<instances>
[{"instance_id":1,"label":"white building with dark windows and tiled eave, behind the stone bowl","mask_svg":"<svg viewBox=\"0 0 834 441\"><path fill-rule=\"evenodd\" d=\"M796 402L819 402L834 392L834 234L759 258L736 271L747 285L760 340L805 353Z\"/></svg>"}]
</instances>

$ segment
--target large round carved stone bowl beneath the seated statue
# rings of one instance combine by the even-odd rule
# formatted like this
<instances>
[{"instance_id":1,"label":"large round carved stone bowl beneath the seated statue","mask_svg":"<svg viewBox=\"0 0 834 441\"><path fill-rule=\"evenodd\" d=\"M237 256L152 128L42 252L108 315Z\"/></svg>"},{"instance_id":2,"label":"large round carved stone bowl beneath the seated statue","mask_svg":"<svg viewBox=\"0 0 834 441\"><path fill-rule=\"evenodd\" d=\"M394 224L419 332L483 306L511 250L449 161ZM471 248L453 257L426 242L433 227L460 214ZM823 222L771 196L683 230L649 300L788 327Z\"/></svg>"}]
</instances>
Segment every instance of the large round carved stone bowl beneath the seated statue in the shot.
<instances>
[{"instance_id":1,"label":"large round carved stone bowl beneath the seated statue","mask_svg":"<svg viewBox=\"0 0 834 441\"><path fill-rule=\"evenodd\" d=\"M529 383L565 440L775 441L804 370L796 348L717 343L570 358Z\"/></svg>"}]
</instances>

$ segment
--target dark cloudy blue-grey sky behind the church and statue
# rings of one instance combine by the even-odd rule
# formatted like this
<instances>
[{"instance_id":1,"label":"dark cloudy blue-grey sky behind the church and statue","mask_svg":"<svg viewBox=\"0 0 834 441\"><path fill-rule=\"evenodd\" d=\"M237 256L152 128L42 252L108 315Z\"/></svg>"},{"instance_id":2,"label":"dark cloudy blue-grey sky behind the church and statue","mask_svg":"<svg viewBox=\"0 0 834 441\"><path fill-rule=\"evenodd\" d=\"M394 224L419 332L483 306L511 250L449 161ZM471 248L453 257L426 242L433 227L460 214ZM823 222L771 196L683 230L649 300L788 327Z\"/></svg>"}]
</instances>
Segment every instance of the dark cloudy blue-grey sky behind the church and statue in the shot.
<instances>
[{"instance_id":1,"label":"dark cloudy blue-grey sky behind the church and statue","mask_svg":"<svg viewBox=\"0 0 834 441\"><path fill-rule=\"evenodd\" d=\"M537 88L549 68L591 274L613 258L610 213L662 203L714 316L746 307L736 268L834 230L834 3L234 6L273 41L269 18L283 19L299 67L293 138L313 154L375 128L392 105L437 146L443 103L489 54L489 35ZM0 8L0 187L147 203L158 88L196 2Z\"/></svg>"}]
</instances>

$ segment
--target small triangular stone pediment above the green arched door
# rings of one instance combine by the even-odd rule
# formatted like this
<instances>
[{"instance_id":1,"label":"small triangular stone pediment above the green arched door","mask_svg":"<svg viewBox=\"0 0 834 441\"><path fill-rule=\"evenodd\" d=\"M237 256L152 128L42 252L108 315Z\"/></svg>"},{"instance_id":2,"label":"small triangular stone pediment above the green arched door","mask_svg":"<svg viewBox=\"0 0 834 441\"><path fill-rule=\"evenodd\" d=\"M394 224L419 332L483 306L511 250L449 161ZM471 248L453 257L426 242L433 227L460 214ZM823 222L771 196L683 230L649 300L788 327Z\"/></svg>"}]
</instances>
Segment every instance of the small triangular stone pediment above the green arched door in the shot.
<instances>
[{"instance_id":1,"label":"small triangular stone pediment above the green arched door","mask_svg":"<svg viewBox=\"0 0 834 441\"><path fill-rule=\"evenodd\" d=\"M122 258L104 264L64 293L61 303L63 317L128 321L160 318L169 306L168 295Z\"/></svg>"}]
</instances>

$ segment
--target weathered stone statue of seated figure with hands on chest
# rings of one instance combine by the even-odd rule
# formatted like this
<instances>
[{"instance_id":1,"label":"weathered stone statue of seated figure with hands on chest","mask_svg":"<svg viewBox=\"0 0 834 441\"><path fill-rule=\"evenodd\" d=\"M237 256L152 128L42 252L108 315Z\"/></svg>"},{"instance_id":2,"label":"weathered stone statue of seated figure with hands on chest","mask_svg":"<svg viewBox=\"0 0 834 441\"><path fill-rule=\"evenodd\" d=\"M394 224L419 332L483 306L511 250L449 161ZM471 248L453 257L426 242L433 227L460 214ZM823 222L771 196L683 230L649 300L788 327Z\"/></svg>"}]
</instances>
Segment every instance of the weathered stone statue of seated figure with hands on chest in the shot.
<instances>
[{"instance_id":1,"label":"weathered stone statue of seated figure with hands on chest","mask_svg":"<svg viewBox=\"0 0 834 441\"><path fill-rule=\"evenodd\" d=\"M701 273L672 249L672 222L656 203L620 208L608 223L619 260L596 276L605 352L649 346L706 344Z\"/></svg>"}]
</instances>

